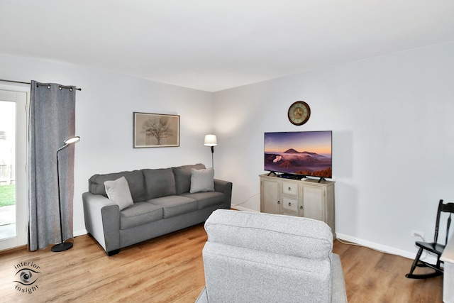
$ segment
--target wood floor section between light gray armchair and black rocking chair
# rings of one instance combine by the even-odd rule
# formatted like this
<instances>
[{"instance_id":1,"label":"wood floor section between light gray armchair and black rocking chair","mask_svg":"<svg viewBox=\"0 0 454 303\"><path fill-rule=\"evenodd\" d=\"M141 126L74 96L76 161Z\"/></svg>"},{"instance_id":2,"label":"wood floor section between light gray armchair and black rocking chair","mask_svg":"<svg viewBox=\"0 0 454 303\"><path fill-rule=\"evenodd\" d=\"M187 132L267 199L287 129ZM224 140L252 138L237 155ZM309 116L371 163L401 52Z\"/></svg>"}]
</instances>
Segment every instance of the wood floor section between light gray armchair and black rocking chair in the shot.
<instances>
[{"instance_id":1,"label":"wood floor section between light gray armchair and black rocking chair","mask_svg":"<svg viewBox=\"0 0 454 303\"><path fill-rule=\"evenodd\" d=\"M334 242L341 256L348 302L443 302L443 277L408 279L413 260L370 248ZM416 248L415 248L416 252ZM415 273L426 272L417 268Z\"/></svg>"}]
</instances>

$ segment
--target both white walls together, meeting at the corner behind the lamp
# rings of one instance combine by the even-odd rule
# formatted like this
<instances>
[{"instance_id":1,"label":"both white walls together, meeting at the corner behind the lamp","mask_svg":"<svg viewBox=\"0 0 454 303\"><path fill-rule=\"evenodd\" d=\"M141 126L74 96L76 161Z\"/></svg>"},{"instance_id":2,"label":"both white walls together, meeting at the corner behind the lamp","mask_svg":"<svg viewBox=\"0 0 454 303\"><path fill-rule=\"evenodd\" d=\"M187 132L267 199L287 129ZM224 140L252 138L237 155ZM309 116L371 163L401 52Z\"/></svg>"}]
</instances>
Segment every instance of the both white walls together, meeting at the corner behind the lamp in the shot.
<instances>
[{"instance_id":1,"label":"both white walls together, meeting at the corner behind the lamp","mask_svg":"<svg viewBox=\"0 0 454 303\"><path fill-rule=\"evenodd\" d=\"M454 198L454 43L376 57L214 94L0 54L0 79L82 87L76 98L74 234L95 173L211 162L233 182L233 204L260 210L266 131L333 131L340 238L411 257L410 231L433 235L438 199ZM304 126L287 120L297 100ZM179 148L132 148L133 111L181 115Z\"/></svg>"}]
</instances>

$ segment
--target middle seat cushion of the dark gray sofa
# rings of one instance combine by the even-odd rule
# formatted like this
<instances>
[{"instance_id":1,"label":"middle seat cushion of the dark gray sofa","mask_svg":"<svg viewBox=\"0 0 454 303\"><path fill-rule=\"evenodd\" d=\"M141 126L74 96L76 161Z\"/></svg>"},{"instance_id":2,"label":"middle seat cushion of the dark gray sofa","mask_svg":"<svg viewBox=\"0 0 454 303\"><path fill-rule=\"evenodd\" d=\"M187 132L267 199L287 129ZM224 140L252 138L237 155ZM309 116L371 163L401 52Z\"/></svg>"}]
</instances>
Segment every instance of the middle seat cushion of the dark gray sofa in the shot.
<instances>
[{"instance_id":1,"label":"middle seat cushion of the dark gray sofa","mask_svg":"<svg viewBox=\"0 0 454 303\"><path fill-rule=\"evenodd\" d=\"M164 218L178 216L179 214L187 214L197 210L197 201L182 196L168 196L148 200L148 203L161 206L163 209Z\"/></svg>"}]
</instances>

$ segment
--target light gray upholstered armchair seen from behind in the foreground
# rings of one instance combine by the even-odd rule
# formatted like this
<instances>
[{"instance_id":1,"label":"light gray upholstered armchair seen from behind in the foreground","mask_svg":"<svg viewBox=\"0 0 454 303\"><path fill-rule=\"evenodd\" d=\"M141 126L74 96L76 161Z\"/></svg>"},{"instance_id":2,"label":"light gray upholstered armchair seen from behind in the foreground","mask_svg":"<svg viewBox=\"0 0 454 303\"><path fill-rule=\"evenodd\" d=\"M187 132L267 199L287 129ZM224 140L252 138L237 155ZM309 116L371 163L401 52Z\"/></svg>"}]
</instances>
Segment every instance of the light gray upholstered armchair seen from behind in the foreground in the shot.
<instances>
[{"instance_id":1,"label":"light gray upholstered armchair seen from behind in the foreground","mask_svg":"<svg viewBox=\"0 0 454 303\"><path fill-rule=\"evenodd\" d=\"M294 216L218 209L205 223L200 302L347 302L331 228Z\"/></svg>"}]
</instances>

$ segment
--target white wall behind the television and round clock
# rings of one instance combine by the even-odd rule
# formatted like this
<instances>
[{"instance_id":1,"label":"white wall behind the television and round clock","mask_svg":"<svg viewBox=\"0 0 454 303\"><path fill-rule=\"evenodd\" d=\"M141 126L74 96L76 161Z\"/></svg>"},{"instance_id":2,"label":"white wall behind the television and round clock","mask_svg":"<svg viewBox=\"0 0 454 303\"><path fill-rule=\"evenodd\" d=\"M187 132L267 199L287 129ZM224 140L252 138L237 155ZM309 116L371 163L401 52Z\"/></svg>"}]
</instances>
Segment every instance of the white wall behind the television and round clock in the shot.
<instances>
[{"instance_id":1,"label":"white wall behind the television and round clock","mask_svg":"<svg viewBox=\"0 0 454 303\"><path fill-rule=\"evenodd\" d=\"M267 131L333 131L340 238L412 257L411 230L431 240L438 200L454 199L454 43L214 96L215 167L233 181L233 204L260 190ZM298 100L311 106L304 126L287 119ZM240 207L259 211L260 197Z\"/></svg>"}]
</instances>

